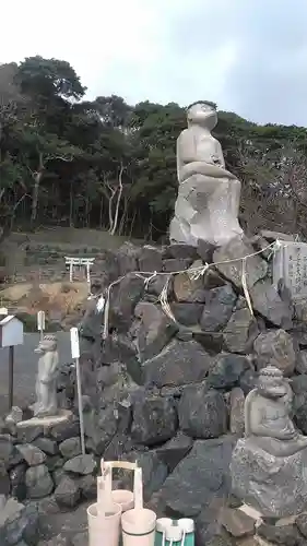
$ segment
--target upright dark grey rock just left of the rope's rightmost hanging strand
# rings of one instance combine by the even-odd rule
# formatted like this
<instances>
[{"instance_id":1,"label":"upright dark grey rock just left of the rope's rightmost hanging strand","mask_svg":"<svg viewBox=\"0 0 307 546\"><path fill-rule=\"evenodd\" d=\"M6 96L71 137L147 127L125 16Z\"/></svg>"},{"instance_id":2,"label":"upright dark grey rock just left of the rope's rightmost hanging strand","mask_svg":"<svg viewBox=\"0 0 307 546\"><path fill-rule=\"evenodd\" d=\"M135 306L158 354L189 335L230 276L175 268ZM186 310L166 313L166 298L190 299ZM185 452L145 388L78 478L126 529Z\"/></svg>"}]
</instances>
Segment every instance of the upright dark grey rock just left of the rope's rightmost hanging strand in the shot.
<instances>
[{"instance_id":1,"label":"upright dark grey rock just left of the rope's rightmost hanging strand","mask_svg":"<svg viewBox=\"0 0 307 546\"><path fill-rule=\"evenodd\" d=\"M200 319L204 332L219 332L228 322L237 296L232 286L226 284L208 293L205 307Z\"/></svg>"}]
</instances>

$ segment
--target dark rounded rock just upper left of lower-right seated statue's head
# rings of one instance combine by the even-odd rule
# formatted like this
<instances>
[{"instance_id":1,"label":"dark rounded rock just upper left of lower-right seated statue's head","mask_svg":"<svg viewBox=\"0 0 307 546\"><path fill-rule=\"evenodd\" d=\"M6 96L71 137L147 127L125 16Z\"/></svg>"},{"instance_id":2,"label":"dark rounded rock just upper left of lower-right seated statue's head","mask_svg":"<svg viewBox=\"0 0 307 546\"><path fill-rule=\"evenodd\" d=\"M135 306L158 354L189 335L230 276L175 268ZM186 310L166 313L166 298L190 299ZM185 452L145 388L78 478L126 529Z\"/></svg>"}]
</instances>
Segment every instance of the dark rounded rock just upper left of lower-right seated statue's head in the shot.
<instances>
[{"instance_id":1,"label":"dark rounded rock just upper left of lower-right seated statue's head","mask_svg":"<svg viewBox=\"0 0 307 546\"><path fill-rule=\"evenodd\" d=\"M215 389L236 387L240 377L250 369L250 363L246 356L232 353L221 353L215 359L208 376L208 383Z\"/></svg>"}]
</instances>

